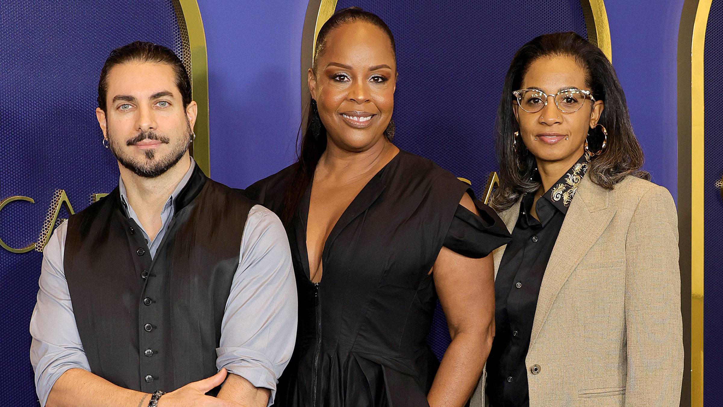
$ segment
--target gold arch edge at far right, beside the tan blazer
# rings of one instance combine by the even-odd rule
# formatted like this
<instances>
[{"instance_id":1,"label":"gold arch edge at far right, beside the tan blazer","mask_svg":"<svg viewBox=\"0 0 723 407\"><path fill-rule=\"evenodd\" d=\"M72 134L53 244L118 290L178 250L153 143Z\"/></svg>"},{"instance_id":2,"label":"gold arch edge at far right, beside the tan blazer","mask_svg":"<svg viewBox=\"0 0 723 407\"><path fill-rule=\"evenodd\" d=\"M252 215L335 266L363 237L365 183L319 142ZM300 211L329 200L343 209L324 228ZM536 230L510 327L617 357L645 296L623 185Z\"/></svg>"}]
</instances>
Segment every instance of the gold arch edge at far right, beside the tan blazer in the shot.
<instances>
[{"instance_id":1,"label":"gold arch edge at far right, beside the tan blazer","mask_svg":"<svg viewBox=\"0 0 723 407\"><path fill-rule=\"evenodd\" d=\"M683 282L683 333L688 345L683 403L703 406L703 259L705 103L703 57L712 0L686 0L678 30L678 228ZM688 277L690 280L688 280ZM687 281L686 281L687 280ZM688 303L690 301L690 303ZM687 314L687 315L686 315ZM685 324L686 319L689 323ZM689 357L689 358L688 358Z\"/></svg>"}]
</instances>

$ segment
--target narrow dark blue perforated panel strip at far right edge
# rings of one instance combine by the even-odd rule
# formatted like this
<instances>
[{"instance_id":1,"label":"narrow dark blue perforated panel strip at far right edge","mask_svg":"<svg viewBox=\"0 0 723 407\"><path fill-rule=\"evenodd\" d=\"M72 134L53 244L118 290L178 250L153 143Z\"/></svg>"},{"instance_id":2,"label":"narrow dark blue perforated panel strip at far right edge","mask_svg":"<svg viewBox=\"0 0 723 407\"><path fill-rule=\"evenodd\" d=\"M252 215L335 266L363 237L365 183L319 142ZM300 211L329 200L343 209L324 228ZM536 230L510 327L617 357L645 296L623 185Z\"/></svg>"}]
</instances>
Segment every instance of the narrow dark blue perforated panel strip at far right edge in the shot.
<instances>
[{"instance_id":1,"label":"narrow dark blue perforated panel strip at far right edge","mask_svg":"<svg viewBox=\"0 0 723 407\"><path fill-rule=\"evenodd\" d=\"M705 175L704 214L705 217L705 259L703 269L706 280L703 290L703 343L706 366L717 366L723 362L720 343L723 335L723 199L716 188L717 180L723 175L723 106L715 94L723 88L723 2L713 1L706 27L706 48L704 62L705 85ZM720 406L723 400L723 373L719 369L705 369L703 402L706 406Z\"/></svg>"}]
</instances>

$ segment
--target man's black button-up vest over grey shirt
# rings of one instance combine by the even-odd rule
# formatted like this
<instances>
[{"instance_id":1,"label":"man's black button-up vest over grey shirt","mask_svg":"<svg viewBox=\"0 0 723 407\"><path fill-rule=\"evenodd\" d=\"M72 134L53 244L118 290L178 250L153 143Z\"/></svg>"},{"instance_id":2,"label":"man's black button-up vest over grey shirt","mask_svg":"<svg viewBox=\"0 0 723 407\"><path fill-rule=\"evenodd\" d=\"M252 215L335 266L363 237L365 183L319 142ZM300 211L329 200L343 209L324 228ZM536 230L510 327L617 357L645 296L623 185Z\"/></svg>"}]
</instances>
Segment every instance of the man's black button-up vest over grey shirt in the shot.
<instances>
[{"instance_id":1,"label":"man's black button-up vest over grey shirt","mask_svg":"<svg viewBox=\"0 0 723 407\"><path fill-rule=\"evenodd\" d=\"M217 372L221 319L253 205L196 167L153 261L118 188L68 219L65 277L93 374L153 393Z\"/></svg>"}]
</instances>

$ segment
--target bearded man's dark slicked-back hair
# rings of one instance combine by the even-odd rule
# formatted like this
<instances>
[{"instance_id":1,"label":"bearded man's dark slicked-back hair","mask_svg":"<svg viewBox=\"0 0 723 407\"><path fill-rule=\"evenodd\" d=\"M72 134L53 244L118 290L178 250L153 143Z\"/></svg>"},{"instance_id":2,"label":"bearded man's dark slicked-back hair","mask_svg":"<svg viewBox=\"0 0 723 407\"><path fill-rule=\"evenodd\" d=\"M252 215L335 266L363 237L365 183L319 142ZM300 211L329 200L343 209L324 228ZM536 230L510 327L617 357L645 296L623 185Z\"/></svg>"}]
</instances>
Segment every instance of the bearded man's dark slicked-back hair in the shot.
<instances>
[{"instance_id":1,"label":"bearded man's dark slicked-back hair","mask_svg":"<svg viewBox=\"0 0 723 407\"><path fill-rule=\"evenodd\" d=\"M176 86L181 92L184 108L191 103L191 80L181 59L174 51L155 43L134 41L111 51L103 69L100 70L98 80L98 107L106 112L106 96L108 96L108 72L116 65L129 62L150 62L154 64L168 64L176 72Z\"/></svg>"}]
</instances>

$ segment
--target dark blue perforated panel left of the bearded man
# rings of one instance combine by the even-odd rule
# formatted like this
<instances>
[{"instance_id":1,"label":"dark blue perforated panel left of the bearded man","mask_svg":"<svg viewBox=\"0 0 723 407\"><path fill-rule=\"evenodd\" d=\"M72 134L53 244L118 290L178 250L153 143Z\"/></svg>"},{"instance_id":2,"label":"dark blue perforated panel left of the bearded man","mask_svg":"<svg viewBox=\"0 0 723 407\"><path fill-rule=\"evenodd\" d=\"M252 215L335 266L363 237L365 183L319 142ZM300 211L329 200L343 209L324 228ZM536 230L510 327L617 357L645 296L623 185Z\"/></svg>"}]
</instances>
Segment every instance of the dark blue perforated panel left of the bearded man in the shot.
<instances>
[{"instance_id":1,"label":"dark blue perforated panel left of the bearded man","mask_svg":"<svg viewBox=\"0 0 723 407\"><path fill-rule=\"evenodd\" d=\"M51 196L73 209L107 193L118 167L100 144L98 75L111 49L136 40L183 44L171 0L0 1L0 200L29 196L0 212L0 238L35 242ZM63 209L60 217L67 217ZM0 406L36 406L28 357L30 315L42 254L0 248Z\"/></svg>"}]
</instances>

